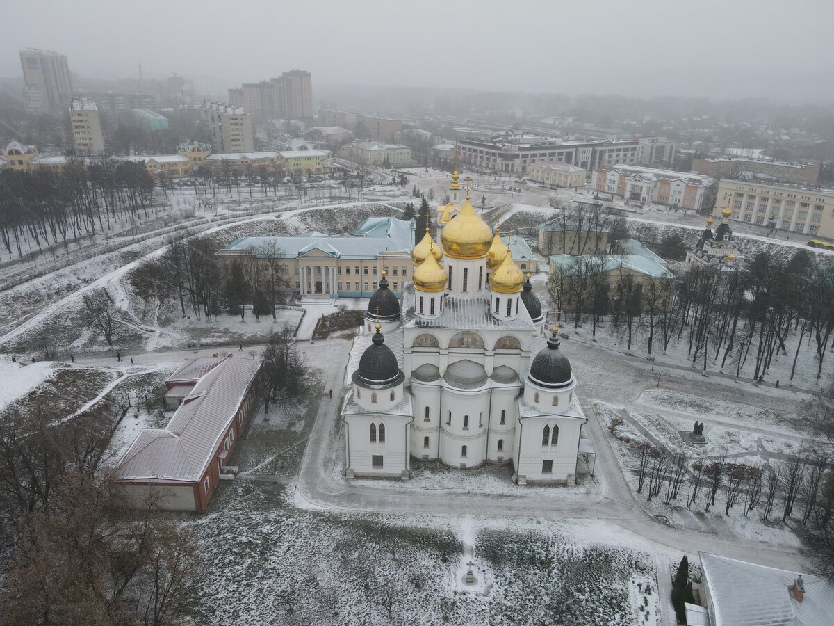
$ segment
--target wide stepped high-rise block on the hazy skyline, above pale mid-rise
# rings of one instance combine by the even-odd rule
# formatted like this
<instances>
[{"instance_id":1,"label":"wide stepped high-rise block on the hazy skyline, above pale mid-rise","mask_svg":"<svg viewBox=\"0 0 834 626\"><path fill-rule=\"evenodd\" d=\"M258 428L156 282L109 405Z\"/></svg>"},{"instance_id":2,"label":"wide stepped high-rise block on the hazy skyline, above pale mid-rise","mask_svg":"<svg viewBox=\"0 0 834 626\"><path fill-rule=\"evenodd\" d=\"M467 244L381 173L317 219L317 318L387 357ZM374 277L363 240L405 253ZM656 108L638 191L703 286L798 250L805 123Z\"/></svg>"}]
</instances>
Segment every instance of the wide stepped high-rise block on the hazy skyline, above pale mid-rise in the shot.
<instances>
[{"instance_id":1,"label":"wide stepped high-rise block on the hazy skyline, above pale mid-rise","mask_svg":"<svg viewBox=\"0 0 834 626\"><path fill-rule=\"evenodd\" d=\"M294 69L279 78L244 83L229 89L229 104L257 118L310 119L313 117L313 78Z\"/></svg>"}]
</instances>

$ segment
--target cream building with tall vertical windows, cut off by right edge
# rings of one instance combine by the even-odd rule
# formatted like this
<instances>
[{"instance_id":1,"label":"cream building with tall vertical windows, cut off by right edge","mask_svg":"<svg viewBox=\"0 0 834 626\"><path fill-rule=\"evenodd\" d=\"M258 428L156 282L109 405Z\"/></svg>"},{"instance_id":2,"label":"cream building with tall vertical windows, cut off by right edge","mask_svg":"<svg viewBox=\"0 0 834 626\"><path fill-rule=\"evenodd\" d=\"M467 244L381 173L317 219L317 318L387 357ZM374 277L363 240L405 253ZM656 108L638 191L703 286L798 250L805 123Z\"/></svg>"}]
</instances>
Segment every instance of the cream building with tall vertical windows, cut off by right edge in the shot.
<instances>
[{"instance_id":1,"label":"cream building with tall vertical windows, cut off by right edge","mask_svg":"<svg viewBox=\"0 0 834 626\"><path fill-rule=\"evenodd\" d=\"M724 179L716 208L727 204L731 220L834 239L834 189Z\"/></svg>"}]
</instances>

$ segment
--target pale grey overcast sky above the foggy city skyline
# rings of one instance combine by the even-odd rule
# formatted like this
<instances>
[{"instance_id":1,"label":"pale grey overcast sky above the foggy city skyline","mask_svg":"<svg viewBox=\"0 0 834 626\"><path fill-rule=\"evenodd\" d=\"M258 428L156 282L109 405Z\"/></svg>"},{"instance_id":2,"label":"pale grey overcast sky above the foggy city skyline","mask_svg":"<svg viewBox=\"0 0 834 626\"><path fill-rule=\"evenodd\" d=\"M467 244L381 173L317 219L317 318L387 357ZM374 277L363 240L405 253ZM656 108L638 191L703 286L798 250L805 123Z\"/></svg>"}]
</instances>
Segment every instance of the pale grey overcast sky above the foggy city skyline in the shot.
<instances>
[{"instance_id":1,"label":"pale grey overcast sky above the foggy city skyline","mask_svg":"<svg viewBox=\"0 0 834 626\"><path fill-rule=\"evenodd\" d=\"M215 87L290 68L359 83L559 93L834 99L830 0L46 0L3 3L18 49L95 78Z\"/></svg>"}]
</instances>

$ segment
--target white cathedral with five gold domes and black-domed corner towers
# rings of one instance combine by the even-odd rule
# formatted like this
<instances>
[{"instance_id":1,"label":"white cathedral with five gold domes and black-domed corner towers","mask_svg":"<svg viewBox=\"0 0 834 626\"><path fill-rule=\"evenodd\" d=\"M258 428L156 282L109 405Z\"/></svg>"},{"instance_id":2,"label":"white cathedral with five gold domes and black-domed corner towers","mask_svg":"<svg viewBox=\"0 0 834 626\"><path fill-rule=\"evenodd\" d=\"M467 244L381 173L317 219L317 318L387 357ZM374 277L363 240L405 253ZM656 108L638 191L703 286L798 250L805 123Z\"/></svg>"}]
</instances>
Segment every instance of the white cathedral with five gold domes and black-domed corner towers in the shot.
<instances>
[{"instance_id":1,"label":"white cathedral with five gold domes and black-domed corner towers","mask_svg":"<svg viewBox=\"0 0 834 626\"><path fill-rule=\"evenodd\" d=\"M384 272L369 300L345 380L344 474L409 478L413 457L511 463L518 484L575 484L587 419L558 328L545 331L530 275L468 189L460 201L458 179L436 240L427 225L414 245L402 301Z\"/></svg>"}]
</instances>

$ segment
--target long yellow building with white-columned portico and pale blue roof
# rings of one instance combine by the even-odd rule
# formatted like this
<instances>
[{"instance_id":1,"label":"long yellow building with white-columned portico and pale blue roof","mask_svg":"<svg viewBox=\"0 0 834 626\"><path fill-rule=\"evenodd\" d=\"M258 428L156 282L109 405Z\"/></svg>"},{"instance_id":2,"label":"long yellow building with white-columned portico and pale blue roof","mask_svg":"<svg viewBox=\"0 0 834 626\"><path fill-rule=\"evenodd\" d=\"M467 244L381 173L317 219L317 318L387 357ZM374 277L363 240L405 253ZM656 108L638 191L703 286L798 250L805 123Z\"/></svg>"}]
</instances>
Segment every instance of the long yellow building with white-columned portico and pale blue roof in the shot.
<instances>
[{"instance_id":1,"label":"long yellow building with white-columned portico and pale blue roof","mask_svg":"<svg viewBox=\"0 0 834 626\"><path fill-rule=\"evenodd\" d=\"M240 237L218 255L227 271L239 262L250 285L272 280L302 296L367 298L385 270L390 290L400 297L411 280L413 229L413 222L369 217L353 237Z\"/></svg>"}]
</instances>

